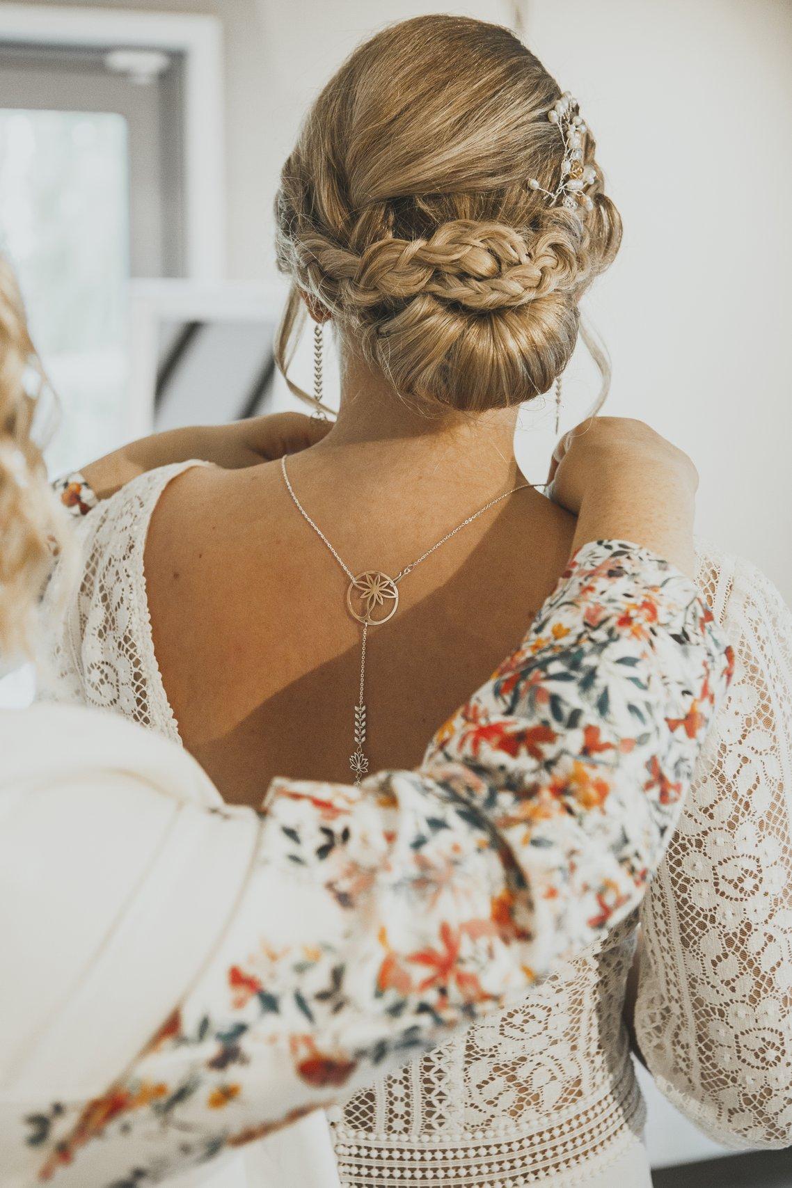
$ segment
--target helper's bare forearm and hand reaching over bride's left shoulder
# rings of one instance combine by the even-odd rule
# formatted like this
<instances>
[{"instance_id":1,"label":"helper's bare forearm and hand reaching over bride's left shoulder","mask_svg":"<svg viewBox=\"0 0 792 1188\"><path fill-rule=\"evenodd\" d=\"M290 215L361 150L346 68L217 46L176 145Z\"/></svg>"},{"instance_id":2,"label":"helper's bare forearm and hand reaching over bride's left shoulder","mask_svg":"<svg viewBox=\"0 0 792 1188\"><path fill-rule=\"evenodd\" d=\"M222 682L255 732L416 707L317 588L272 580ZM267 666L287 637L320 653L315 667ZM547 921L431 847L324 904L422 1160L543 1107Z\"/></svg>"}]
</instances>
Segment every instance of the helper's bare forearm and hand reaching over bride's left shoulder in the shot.
<instances>
[{"instance_id":1,"label":"helper's bare forearm and hand reaching over bride's left shoulder","mask_svg":"<svg viewBox=\"0 0 792 1188\"><path fill-rule=\"evenodd\" d=\"M82 468L99 499L108 499L132 479L172 462L197 457L227 470L272 462L321 441L331 422L302 412L277 412L229 425L190 425L141 437Z\"/></svg>"}]
</instances>

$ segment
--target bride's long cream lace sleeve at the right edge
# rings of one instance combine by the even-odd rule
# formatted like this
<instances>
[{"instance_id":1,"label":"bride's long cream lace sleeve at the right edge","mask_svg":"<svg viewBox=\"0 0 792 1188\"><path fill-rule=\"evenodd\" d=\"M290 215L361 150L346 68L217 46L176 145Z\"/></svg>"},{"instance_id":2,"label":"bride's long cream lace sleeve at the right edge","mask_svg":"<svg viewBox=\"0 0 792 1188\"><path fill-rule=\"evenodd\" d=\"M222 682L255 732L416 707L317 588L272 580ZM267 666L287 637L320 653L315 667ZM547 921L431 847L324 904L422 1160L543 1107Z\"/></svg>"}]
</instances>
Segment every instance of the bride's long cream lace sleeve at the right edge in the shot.
<instances>
[{"instance_id":1,"label":"bride's long cream lace sleeve at the right edge","mask_svg":"<svg viewBox=\"0 0 792 1188\"><path fill-rule=\"evenodd\" d=\"M728 1146L792 1143L792 614L743 561L702 586L728 700L641 910L635 1034L665 1097Z\"/></svg>"}]
</instances>

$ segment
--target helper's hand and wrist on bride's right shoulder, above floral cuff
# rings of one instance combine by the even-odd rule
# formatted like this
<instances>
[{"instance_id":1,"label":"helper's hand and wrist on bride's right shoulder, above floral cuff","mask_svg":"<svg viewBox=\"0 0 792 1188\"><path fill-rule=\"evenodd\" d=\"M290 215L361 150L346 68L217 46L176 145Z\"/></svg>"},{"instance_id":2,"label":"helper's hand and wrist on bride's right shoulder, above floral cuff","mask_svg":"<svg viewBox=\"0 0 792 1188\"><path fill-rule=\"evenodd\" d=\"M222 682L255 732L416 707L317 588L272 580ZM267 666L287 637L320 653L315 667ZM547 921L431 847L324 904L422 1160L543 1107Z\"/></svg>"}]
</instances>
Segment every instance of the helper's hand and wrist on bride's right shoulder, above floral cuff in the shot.
<instances>
[{"instance_id":1,"label":"helper's hand and wrist on bride's right shoulder, above floral cuff","mask_svg":"<svg viewBox=\"0 0 792 1188\"><path fill-rule=\"evenodd\" d=\"M632 541L693 576L698 473L644 422L584 421L556 447L549 484L550 498L577 516L574 551L588 541Z\"/></svg>"}]
</instances>

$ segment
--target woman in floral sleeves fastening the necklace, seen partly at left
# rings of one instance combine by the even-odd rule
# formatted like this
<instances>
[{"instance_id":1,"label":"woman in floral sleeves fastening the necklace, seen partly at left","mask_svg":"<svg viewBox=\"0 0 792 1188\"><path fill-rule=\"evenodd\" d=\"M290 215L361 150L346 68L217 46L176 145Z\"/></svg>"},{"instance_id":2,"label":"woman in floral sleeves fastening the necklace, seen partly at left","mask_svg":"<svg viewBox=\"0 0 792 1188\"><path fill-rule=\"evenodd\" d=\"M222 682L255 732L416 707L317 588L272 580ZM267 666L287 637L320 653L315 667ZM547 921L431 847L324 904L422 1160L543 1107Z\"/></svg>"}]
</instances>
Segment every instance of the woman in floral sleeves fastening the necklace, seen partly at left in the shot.
<instances>
[{"instance_id":1,"label":"woman in floral sleeves fastening the necklace, seen partly at left","mask_svg":"<svg viewBox=\"0 0 792 1188\"><path fill-rule=\"evenodd\" d=\"M23 380L37 366L13 277L0 265L6 657L30 639L53 538L64 562L70 548L31 437L36 402ZM279 421L274 442L272 423L264 432L268 448L278 448L284 432L294 444L294 428ZM97 485L116 487L131 468L161 462L169 450L178 457L185 437L227 465L248 460L247 432L235 428L220 440L198 431L140 443L90 473ZM260 444L259 435L253 447ZM669 523L655 510L635 511L646 492L646 450L633 453L604 504L589 493L601 487L607 450L587 462L578 449L576 462L562 463L559 481L581 501L595 537L626 530L682 558L691 468L661 447L678 512ZM82 511L94 500L82 507L69 501ZM584 555L604 564L587 570ZM636 599L657 612L641 633L622 623ZM593 916L597 889L617 891L614 923L638 902L678 813L657 781L644 790L642 769L659 764L679 777L684 795L722 701L728 649L682 573L646 549L613 542L583 548L541 621L553 642L543 646L537 633L530 637L500 680L435 742L419 773L374 777L361 792L280 781L264 814L221 809L217 791L184 751L119 718L49 707L0 714L4 1186L52 1178L80 1188L137 1186L222 1162L221 1152L252 1145L349 1092L355 1079L399 1063L443 1028L530 988L553 954L577 952L608 927ZM591 662L604 665L606 681L585 693ZM578 675L564 682L563 701L584 703L575 727L553 729L557 746L545 727L540 762L541 672L560 675L568 665ZM531 674L527 682L522 672ZM648 728L628 746L622 707L639 674L646 696L632 701L644 704ZM607 712L606 685L614 694ZM669 715L686 715L695 689L709 694L689 737L669 725ZM488 697L495 699L489 706ZM513 744L531 742L507 752L506 781L503 751L480 741L474 754L463 741L482 713ZM610 742L607 759L588 754L593 728ZM587 771L602 794L595 805L579 795ZM514 833L520 807L551 788L562 811L533 836L555 849L555 874L549 849L531 848L525 824ZM558 876L544 909L537 890ZM439 954L454 937L461 944L446 990L420 980L413 986L408 975L405 985L404 969L391 985L400 949L410 965ZM268 971L260 968L265 954ZM351 960L354 979L346 979ZM317 975L329 994L317 988ZM316 1168L321 1144L306 1154L323 1175ZM239 1159L214 1182L239 1186ZM289 1150L271 1139L258 1152L259 1182L299 1182L290 1178L287 1161ZM199 1182L208 1183L205 1171Z\"/></svg>"}]
</instances>

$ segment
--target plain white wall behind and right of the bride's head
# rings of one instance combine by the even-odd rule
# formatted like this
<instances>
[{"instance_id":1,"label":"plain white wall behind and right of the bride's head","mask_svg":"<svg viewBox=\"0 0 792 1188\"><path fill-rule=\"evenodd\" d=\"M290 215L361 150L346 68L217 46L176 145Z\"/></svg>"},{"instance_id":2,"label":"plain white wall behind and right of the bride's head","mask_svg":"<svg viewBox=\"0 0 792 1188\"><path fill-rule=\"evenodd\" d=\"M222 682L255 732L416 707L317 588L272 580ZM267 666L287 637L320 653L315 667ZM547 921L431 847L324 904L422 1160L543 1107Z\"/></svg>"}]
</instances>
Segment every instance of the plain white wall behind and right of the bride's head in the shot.
<instances>
[{"instance_id":1,"label":"plain white wall behind and right of the bride's head","mask_svg":"<svg viewBox=\"0 0 792 1188\"><path fill-rule=\"evenodd\" d=\"M792 4L518 0L527 40L581 99L625 241L589 308L610 349L608 411L650 421L701 472L699 531L761 565L792 601L790 272ZM123 0L83 7L123 8ZM159 0L135 7L161 10ZM273 272L272 198L306 105L378 25L431 0L167 0L222 18L229 276ZM509 23L511 0L451 6ZM578 352L564 425L596 375ZM544 478L552 417L525 418Z\"/></svg>"}]
</instances>

